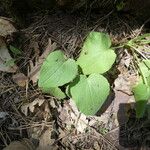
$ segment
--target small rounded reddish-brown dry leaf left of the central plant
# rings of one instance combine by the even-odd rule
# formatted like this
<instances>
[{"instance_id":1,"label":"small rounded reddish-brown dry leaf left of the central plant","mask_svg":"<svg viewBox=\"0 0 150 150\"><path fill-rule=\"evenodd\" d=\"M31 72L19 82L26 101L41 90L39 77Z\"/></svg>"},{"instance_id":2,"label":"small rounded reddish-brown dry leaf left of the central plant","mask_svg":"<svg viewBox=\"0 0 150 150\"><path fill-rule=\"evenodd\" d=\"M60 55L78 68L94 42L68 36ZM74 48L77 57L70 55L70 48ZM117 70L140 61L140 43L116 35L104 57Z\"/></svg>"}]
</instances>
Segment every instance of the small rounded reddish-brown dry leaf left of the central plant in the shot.
<instances>
[{"instance_id":1,"label":"small rounded reddish-brown dry leaf left of the central plant","mask_svg":"<svg viewBox=\"0 0 150 150\"><path fill-rule=\"evenodd\" d=\"M28 78L23 73L17 73L13 75L13 81L20 87L25 87Z\"/></svg>"}]
</instances>

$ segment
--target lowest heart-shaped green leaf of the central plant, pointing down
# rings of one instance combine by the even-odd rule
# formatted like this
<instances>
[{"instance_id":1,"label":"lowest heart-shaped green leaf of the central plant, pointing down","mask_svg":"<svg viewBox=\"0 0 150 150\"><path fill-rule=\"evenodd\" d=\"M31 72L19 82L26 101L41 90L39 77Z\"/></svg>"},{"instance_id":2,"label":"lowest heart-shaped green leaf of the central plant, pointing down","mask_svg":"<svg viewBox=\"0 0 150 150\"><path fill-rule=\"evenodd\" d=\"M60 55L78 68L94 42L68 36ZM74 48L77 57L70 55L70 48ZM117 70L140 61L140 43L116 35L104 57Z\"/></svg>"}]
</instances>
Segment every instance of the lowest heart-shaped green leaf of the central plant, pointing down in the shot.
<instances>
[{"instance_id":1,"label":"lowest heart-shaped green leaf of the central plant, pointing down","mask_svg":"<svg viewBox=\"0 0 150 150\"><path fill-rule=\"evenodd\" d=\"M110 87L107 79L99 74L77 77L70 84L70 93L78 109L86 115L94 115L109 95Z\"/></svg>"}]
</instances>

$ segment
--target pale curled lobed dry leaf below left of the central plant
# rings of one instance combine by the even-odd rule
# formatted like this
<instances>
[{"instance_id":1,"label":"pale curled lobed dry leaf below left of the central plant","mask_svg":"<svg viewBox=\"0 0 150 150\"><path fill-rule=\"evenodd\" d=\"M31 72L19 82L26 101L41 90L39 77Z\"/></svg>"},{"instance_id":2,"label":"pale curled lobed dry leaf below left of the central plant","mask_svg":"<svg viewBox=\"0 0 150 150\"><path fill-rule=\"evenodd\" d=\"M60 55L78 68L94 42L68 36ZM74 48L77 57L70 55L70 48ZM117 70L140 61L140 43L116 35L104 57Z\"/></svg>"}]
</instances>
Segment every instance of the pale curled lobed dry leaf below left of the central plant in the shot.
<instances>
[{"instance_id":1,"label":"pale curled lobed dry leaf below left of the central plant","mask_svg":"<svg viewBox=\"0 0 150 150\"><path fill-rule=\"evenodd\" d=\"M36 105L41 106L44 103L44 101L45 101L44 99L37 98L29 104L22 105L21 111L27 116L28 110L30 110L31 112L34 112L35 106Z\"/></svg>"}]
</instances>

